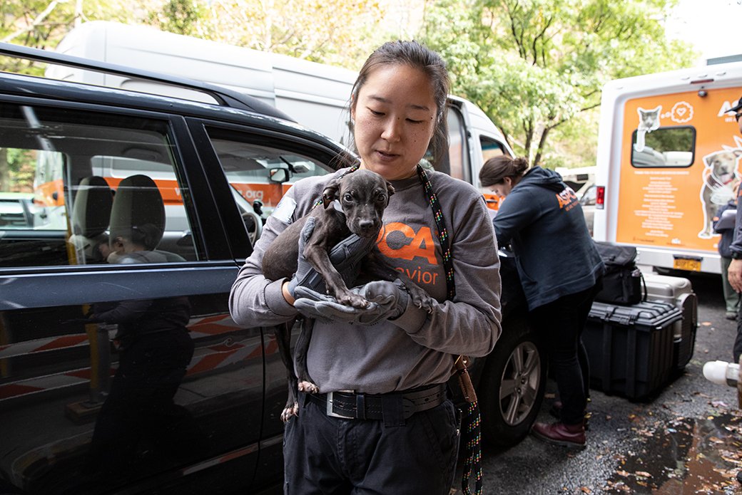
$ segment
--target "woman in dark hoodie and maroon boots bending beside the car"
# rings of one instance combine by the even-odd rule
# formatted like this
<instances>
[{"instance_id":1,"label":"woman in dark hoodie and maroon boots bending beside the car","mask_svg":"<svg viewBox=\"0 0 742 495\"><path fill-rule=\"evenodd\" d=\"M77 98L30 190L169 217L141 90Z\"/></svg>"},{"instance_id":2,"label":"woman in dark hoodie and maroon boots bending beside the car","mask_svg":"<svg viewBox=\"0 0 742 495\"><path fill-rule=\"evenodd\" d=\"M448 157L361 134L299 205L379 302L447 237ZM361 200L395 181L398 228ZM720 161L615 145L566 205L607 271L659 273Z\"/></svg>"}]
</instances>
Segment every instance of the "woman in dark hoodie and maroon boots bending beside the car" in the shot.
<instances>
[{"instance_id":1,"label":"woman in dark hoodie and maroon boots bending beside the car","mask_svg":"<svg viewBox=\"0 0 742 495\"><path fill-rule=\"evenodd\" d=\"M493 225L497 244L510 244L534 327L556 372L560 421L532 433L559 445L585 445L586 360L580 336L605 265L588 233L577 196L562 176L523 158L496 156L479 173L483 187L505 197ZM581 363L582 361L582 363Z\"/></svg>"}]
</instances>

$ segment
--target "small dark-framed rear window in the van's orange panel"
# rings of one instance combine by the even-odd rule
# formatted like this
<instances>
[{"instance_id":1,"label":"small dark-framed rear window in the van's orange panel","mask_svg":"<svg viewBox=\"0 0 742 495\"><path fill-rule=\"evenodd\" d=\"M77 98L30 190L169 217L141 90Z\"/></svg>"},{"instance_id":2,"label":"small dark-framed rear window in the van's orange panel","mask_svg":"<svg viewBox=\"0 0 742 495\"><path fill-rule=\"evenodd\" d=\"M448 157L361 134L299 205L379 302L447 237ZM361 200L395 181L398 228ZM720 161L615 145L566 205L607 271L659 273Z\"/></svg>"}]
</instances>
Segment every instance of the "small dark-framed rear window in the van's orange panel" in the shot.
<instances>
[{"instance_id":1,"label":"small dark-framed rear window in the van's orange panel","mask_svg":"<svg viewBox=\"0 0 742 495\"><path fill-rule=\"evenodd\" d=\"M638 168L690 167L695 156L695 127L634 130L631 165Z\"/></svg>"}]
</instances>

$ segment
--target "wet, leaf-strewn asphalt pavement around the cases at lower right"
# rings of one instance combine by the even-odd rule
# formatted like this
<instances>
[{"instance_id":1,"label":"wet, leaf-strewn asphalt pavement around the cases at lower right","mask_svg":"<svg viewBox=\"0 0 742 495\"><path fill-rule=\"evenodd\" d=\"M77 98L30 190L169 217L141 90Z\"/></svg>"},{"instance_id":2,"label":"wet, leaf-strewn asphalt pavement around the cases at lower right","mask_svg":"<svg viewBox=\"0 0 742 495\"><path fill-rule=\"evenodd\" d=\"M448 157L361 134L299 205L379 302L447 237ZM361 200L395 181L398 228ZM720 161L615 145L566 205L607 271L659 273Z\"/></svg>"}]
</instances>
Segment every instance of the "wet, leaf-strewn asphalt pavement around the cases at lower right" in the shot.
<instances>
[{"instance_id":1,"label":"wet, leaf-strewn asphalt pavement around the cases at lower right","mask_svg":"<svg viewBox=\"0 0 742 495\"><path fill-rule=\"evenodd\" d=\"M708 361L732 361L737 324L724 317L720 276L680 275L699 299L695 351L684 370L640 402L591 391L584 450L533 436L508 449L485 443L484 494L742 494L737 390L702 372ZM548 409L556 390L549 379L538 421L554 421Z\"/></svg>"}]
</instances>

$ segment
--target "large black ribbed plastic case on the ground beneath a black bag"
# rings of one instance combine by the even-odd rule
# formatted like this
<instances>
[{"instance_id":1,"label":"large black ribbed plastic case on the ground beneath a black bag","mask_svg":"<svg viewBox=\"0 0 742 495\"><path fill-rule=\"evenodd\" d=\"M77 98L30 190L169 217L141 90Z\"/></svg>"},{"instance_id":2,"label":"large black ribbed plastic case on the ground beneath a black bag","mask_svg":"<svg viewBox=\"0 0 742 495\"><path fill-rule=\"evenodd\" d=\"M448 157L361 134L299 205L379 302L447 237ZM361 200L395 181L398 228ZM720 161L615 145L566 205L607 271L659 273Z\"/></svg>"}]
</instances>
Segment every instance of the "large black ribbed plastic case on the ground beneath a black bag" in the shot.
<instances>
[{"instance_id":1,"label":"large black ribbed plastic case on the ground beneath a black bag","mask_svg":"<svg viewBox=\"0 0 742 495\"><path fill-rule=\"evenodd\" d=\"M674 305L594 302L582 333L591 386L640 399L660 388L673 366L673 325L683 318Z\"/></svg>"}]
</instances>

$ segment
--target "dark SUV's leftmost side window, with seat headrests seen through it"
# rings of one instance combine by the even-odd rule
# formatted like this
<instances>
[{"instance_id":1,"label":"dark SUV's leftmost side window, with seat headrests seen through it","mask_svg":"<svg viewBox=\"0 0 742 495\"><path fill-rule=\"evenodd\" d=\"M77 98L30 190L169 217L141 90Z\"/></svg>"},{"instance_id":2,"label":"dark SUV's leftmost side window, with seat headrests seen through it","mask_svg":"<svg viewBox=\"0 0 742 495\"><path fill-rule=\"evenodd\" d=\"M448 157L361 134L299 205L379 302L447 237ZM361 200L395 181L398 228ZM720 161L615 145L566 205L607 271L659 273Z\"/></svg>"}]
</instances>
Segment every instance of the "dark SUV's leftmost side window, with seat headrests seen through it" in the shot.
<instances>
[{"instance_id":1,"label":"dark SUV's leftmost side window, with seat headrests seen through it","mask_svg":"<svg viewBox=\"0 0 742 495\"><path fill-rule=\"evenodd\" d=\"M203 258L167 122L0 104L0 147L0 268Z\"/></svg>"}]
</instances>

